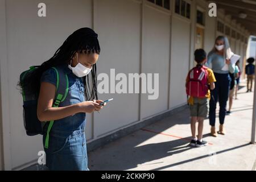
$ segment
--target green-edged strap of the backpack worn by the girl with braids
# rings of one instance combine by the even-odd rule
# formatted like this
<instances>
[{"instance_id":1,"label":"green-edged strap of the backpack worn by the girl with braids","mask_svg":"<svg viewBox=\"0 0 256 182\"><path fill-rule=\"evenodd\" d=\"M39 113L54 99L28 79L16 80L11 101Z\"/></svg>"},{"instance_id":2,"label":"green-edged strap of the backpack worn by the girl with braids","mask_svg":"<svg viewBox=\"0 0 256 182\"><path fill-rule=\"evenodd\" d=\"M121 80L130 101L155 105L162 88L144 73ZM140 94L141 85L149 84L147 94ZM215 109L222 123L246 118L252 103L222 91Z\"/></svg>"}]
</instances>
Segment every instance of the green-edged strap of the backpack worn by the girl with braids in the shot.
<instances>
[{"instance_id":1,"label":"green-edged strap of the backpack worn by the girl with braids","mask_svg":"<svg viewBox=\"0 0 256 182\"><path fill-rule=\"evenodd\" d=\"M65 100L68 94L68 76L64 73L63 69L59 69L56 67L52 67L52 69L56 72L57 82L56 82L56 93L55 93L55 101L53 103L53 107L59 107L60 103ZM46 142L44 143L44 148L49 147L49 133L52 129L54 121L50 121L46 134Z\"/></svg>"}]
</instances>

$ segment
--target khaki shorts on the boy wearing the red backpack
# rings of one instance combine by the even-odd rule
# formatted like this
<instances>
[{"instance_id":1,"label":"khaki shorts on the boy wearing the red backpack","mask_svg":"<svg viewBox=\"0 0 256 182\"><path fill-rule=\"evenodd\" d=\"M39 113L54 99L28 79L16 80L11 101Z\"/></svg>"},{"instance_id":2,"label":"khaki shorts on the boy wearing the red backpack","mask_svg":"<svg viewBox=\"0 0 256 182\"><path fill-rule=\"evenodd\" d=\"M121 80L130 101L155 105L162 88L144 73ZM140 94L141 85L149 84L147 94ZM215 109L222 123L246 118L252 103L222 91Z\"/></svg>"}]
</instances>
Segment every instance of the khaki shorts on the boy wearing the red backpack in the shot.
<instances>
[{"instance_id":1,"label":"khaki shorts on the boy wearing the red backpack","mask_svg":"<svg viewBox=\"0 0 256 182\"><path fill-rule=\"evenodd\" d=\"M193 105L189 105L191 117L206 118L208 114L208 98L193 98Z\"/></svg>"}]
</instances>

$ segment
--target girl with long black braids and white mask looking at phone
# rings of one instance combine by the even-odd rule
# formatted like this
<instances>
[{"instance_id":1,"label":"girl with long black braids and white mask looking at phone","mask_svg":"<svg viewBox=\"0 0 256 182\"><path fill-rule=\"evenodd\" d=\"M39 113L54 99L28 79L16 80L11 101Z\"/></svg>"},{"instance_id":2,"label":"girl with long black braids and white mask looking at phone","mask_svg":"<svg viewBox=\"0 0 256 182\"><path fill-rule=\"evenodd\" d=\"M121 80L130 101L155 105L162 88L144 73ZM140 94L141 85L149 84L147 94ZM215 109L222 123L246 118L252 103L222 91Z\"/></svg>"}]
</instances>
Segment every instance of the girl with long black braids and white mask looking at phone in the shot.
<instances>
[{"instance_id":1,"label":"girl with long black braids and white mask looking at phone","mask_svg":"<svg viewBox=\"0 0 256 182\"><path fill-rule=\"evenodd\" d=\"M50 170L89 170L85 113L101 110L103 102L97 97L96 62L100 55L97 37L90 28L73 32L51 59L19 83L23 90L39 93L38 119L55 121L49 134L49 147L44 148ZM69 80L67 97L59 107L52 107L56 92L56 72L52 67L63 69ZM43 143L46 130L44 127Z\"/></svg>"}]
</instances>

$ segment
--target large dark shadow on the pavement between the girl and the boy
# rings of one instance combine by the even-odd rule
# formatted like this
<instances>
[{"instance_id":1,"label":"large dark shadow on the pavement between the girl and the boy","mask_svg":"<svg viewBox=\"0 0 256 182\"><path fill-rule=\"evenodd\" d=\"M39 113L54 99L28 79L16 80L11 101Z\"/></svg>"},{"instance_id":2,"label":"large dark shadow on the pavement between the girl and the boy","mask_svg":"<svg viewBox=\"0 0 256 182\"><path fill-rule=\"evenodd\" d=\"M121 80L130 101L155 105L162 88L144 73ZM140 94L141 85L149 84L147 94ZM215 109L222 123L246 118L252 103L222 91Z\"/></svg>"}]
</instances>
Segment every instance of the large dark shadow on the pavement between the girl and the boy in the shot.
<instances>
[{"instance_id":1,"label":"large dark shadow on the pavement between the girl and the boy","mask_svg":"<svg viewBox=\"0 0 256 182\"><path fill-rule=\"evenodd\" d=\"M102 147L105 150L102 154L101 149L89 153L89 168L91 170L127 170L137 167L138 165L154 165L154 160L160 160L167 156L180 154L182 152L193 150L195 147L189 146L191 137L179 138L167 142L143 144L148 139L155 137L159 133L164 132L167 129L172 128L175 125L188 125L190 128L189 110L186 109L179 113L176 113L172 117L163 119L156 122L144 129L141 129L127 137L121 138L112 144ZM146 130L148 131L146 131ZM150 132L150 130L154 132ZM210 134L206 134L203 137L209 137ZM129 142L127 142L129 141ZM108 148L112 148L109 152ZM114 148L114 150L113 150ZM126 157L129 156L129 157ZM130 157L132 156L132 157ZM96 162L90 159L97 159ZM98 160L102 159L102 160ZM163 161L164 162L164 161ZM163 163L157 162L157 163ZM92 165L90 165L92 164ZM97 168L99 167L99 168Z\"/></svg>"}]
</instances>

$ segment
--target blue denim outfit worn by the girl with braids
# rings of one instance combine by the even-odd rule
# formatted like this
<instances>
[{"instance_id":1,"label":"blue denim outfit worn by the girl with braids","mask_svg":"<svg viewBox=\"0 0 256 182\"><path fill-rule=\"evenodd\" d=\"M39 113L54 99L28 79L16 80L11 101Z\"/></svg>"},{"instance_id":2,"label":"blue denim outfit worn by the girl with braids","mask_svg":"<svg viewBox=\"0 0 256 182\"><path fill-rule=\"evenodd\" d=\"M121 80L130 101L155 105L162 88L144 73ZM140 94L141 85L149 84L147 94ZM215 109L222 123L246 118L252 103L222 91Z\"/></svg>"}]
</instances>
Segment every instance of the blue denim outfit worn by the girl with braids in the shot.
<instances>
[{"instance_id":1,"label":"blue denim outfit worn by the girl with braids","mask_svg":"<svg viewBox=\"0 0 256 182\"><path fill-rule=\"evenodd\" d=\"M84 102L84 83L68 68L68 64L59 66L67 73L69 88L67 97L59 107ZM56 72L49 68L43 73L41 82L50 82L56 86ZM46 152L46 165L49 170L88 171L88 159L85 139L85 113L56 120L49 134L49 147ZM46 125L48 126L48 125ZM44 128L46 133L47 127ZM43 144L46 134L43 135Z\"/></svg>"}]
</instances>

